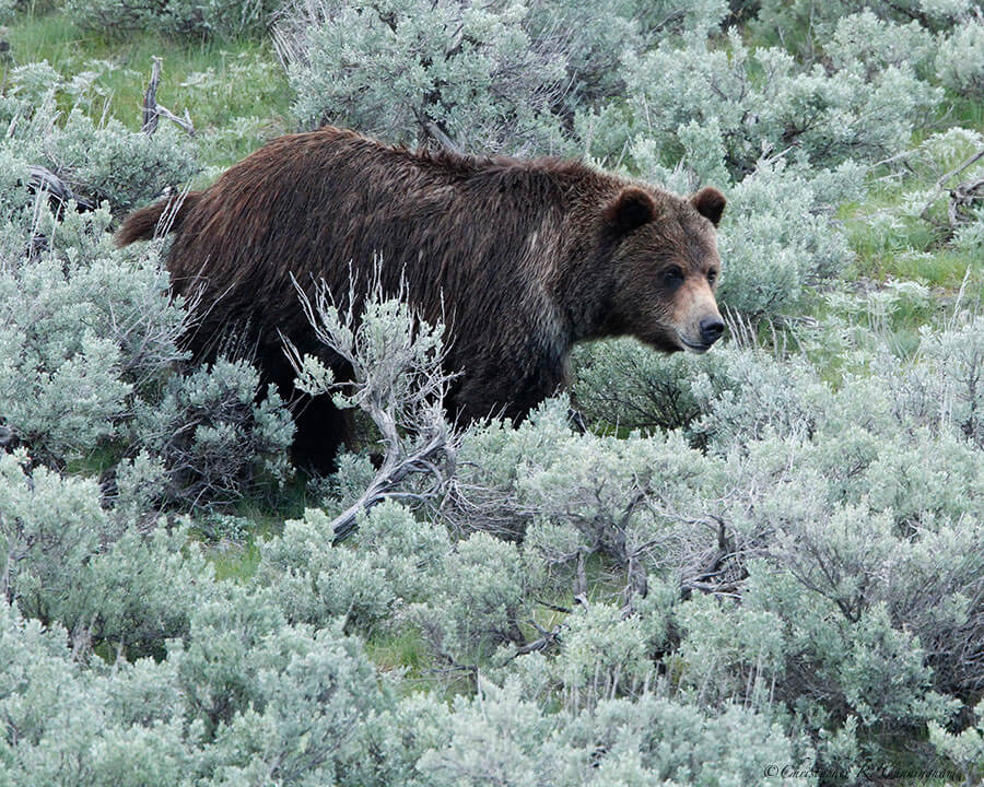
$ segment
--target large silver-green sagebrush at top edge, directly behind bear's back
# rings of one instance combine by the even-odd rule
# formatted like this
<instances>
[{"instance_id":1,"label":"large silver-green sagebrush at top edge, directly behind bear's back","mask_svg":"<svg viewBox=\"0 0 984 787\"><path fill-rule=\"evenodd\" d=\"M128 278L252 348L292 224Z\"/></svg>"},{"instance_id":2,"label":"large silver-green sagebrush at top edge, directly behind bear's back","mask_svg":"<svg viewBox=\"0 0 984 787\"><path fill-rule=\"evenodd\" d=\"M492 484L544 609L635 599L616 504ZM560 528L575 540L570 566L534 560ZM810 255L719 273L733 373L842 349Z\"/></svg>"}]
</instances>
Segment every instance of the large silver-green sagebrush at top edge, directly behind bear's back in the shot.
<instances>
[{"instance_id":1,"label":"large silver-green sagebrush at top edge, directly behind bear's back","mask_svg":"<svg viewBox=\"0 0 984 787\"><path fill-rule=\"evenodd\" d=\"M624 51L703 37L726 12L719 0L617 0L589 13L555 0L324 0L289 7L276 40L302 125L479 153L566 153L581 146L572 127L586 137L596 128L579 116L624 93Z\"/></svg>"}]
</instances>

